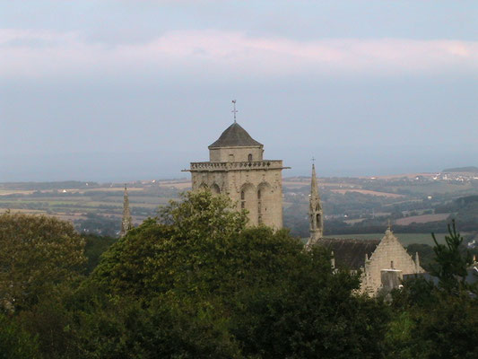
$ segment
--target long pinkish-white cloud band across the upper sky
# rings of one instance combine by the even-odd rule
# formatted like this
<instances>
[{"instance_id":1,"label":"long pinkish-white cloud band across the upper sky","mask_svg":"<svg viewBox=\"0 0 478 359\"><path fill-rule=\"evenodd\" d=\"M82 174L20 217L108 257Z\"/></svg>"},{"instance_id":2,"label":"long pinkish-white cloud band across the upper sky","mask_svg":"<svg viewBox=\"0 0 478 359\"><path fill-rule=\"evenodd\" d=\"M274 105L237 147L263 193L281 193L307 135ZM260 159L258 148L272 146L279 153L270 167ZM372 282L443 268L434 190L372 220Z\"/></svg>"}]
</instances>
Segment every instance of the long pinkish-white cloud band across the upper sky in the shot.
<instances>
[{"instance_id":1,"label":"long pinkish-white cloud band across the upper sky","mask_svg":"<svg viewBox=\"0 0 478 359\"><path fill-rule=\"evenodd\" d=\"M478 42L251 37L169 31L111 45L79 32L0 30L0 76L478 74Z\"/></svg>"}]
</instances>

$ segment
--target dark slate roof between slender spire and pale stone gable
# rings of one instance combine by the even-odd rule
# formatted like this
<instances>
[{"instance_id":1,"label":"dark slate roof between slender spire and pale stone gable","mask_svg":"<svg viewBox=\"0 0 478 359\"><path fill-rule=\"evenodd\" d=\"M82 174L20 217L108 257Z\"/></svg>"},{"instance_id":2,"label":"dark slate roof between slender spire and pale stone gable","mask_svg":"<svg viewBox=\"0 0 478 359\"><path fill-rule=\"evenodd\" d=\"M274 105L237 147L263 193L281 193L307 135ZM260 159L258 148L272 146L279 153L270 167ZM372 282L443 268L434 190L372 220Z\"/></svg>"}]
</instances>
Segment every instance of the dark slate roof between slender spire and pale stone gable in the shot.
<instances>
[{"instance_id":1,"label":"dark slate roof between slender spire and pale stone gable","mask_svg":"<svg viewBox=\"0 0 478 359\"><path fill-rule=\"evenodd\" d=\"M334 250L335 267L356 270L365 266L365 254L370 258L380 240L323 238L318 243L329 250Z\"/></svg>"}]
</instances>

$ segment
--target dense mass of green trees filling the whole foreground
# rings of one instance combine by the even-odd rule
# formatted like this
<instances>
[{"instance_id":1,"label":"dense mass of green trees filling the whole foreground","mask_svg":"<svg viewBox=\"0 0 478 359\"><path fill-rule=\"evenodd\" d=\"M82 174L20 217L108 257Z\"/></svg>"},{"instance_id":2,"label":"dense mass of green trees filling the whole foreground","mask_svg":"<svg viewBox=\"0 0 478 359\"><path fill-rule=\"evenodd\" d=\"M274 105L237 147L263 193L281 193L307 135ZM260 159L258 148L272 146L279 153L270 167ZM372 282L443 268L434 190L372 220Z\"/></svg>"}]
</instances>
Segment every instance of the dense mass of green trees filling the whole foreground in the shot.
<instances>
[{"instance_id":1,"label":"dense mass of green trees filling the whole foreground","mask_svg":"<svg viewBox=\"0 0 478 359\"><path fill-rule=\"evenodd\" d=\"M32 258L52 279L39 285L48 292L0 313L0 358L478 355L476 292L460 277L469 262L453 230L434 249L439 285L415 278L386 304L358 295L360 276L333 271L321 247L306 251L285 230L248 228L229 199L205 191L186 194L117 241L84 241L71 225L46 217L1 219L4 243L36 238L35 246L17 248L38 252L22 262L1 257L2 268L30 275ZM63 241L76 243L81 261L65 257ZM37 250L52 242L53 254Z\"/></svg>"}]
</instances>

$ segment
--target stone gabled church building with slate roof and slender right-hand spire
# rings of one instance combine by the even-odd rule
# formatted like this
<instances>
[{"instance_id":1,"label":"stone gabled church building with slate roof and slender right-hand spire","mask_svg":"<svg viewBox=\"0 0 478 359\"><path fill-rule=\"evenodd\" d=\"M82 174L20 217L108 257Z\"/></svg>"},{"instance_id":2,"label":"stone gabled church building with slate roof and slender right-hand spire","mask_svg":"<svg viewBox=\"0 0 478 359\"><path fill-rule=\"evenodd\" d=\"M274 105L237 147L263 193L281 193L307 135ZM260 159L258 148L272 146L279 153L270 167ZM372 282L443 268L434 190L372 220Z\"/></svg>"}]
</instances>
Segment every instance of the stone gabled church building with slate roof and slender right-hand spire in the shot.
<instances>
[{"instance_id":1,"label":"stone gabled church building with slate roof and slender right-hand spire","mask_svg":"<svg viewBox=\"0 0 478 359\"><path fill-rule=\"evenodd\" d=\"M388 226L380 240L354 240L323 238L323 211L318 195L315 166L312 165L312 183L309 197L310 237L306 247L325 246L333 254L333 267L352 272L361 271L361 293L370 296L389 292L400 285L404 275L424 273L418 253L415 260L395 237Z\"/></svg>"}]
</instances>

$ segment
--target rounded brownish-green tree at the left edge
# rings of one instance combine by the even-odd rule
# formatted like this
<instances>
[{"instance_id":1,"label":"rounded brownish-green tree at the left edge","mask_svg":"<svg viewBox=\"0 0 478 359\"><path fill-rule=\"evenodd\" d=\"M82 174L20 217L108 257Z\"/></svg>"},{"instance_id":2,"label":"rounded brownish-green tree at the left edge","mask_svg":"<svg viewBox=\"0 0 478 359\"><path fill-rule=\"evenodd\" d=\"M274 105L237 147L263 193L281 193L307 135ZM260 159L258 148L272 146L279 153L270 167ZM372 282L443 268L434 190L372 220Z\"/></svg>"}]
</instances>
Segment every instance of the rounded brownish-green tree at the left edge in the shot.
<instances>
[{"instance_id":1,"label":"rounded brownish-green tree at the left edge","mask_svg":"<svg viewBox=\"0 0 478 359\"><path fill-rule=\"evenodd\" d=\"M0 306L29 308L84 269L84 242L74 227L45 215L0 215Z\"/></svg>"}]
</instances>

